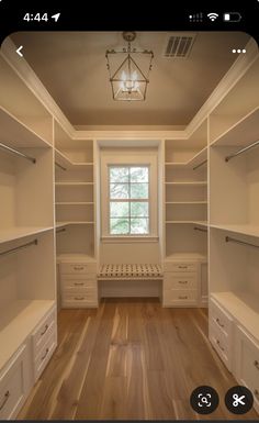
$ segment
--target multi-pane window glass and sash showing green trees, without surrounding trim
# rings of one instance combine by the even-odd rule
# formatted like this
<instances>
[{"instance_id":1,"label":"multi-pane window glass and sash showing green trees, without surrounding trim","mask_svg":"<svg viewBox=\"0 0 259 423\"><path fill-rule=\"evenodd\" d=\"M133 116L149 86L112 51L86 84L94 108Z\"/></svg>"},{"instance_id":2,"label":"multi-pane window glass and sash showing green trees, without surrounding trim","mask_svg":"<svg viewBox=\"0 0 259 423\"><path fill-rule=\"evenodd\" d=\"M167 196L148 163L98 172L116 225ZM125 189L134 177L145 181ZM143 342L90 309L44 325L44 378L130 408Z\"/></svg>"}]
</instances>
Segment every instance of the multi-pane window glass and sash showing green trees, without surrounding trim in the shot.
<instances>
[{"instance_id":1,"label":"multi-pane window glass and sash showing green trees, without surrounding trim","mask_svg":"<svg viewBox=\"0 0 259 423\"><path fill-rule=\"evenodd\" d=\"M110 235L148 235L149 166L109 166Z\"/></svg>"}]
</instances>

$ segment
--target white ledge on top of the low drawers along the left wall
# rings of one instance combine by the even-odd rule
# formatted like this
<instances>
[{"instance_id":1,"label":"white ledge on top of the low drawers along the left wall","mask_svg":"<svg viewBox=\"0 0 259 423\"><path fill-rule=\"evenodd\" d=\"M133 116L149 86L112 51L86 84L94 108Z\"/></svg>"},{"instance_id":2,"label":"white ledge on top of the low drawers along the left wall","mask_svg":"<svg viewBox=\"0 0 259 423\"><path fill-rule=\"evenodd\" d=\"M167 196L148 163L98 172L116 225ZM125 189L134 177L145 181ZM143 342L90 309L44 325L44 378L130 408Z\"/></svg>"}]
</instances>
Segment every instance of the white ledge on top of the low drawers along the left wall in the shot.
<instances>
[{"instance_id":1,"label":"white ledge on top of the low drawers along the left wall","mask_svg":"<svg viewBox=\"0 0 259 423\"><path fill-rule=\"evenodd\" d=\"M0 369L55 304L52 300L13 301L0 313Z\"/></svg>"}]
</instances>

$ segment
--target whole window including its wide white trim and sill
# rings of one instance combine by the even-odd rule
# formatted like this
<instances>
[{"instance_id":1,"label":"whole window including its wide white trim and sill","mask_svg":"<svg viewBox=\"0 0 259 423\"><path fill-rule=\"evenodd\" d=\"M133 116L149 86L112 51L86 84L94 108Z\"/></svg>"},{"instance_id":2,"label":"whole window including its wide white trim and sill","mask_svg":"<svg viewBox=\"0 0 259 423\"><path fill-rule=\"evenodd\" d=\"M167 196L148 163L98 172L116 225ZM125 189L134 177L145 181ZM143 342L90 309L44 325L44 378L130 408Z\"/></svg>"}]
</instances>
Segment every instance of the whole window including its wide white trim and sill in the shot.
<instances>
[{"instance_id":1,"label":"whole window including its wide white trim and sill","mask_svg":"<svg viewBox=\"0 0 259 423\"><path fill-rule=\"evenodd\" d=\"M101 148L99 194L103 243L157 242L157 149Z\"/></svg>"}]
</instances>

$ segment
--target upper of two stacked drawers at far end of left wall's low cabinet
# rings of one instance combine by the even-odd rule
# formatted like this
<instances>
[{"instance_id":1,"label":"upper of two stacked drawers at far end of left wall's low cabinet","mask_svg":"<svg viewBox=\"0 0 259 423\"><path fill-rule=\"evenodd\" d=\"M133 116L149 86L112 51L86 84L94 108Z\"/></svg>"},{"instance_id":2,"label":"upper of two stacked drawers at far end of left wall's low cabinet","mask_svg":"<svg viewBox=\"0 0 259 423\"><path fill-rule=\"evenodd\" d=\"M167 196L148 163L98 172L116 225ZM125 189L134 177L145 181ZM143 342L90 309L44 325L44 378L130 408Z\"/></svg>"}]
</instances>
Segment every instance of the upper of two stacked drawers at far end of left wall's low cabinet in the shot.
<instances>
[{"instance_id":1,"label":"upper of two stacked drawers at far end of left wall's low cabinet","mask_svg":"<svg viewBox=\"0 0 259 423\"><path fill-rule=\"evenodd\" d=\"M52 310L50 313L47 314L44 321L32 334L34 357L36 357L36 355L40 353L49 334L54 331L54 327L56 330L56 309Z\"/></svg>"}]
</instances>

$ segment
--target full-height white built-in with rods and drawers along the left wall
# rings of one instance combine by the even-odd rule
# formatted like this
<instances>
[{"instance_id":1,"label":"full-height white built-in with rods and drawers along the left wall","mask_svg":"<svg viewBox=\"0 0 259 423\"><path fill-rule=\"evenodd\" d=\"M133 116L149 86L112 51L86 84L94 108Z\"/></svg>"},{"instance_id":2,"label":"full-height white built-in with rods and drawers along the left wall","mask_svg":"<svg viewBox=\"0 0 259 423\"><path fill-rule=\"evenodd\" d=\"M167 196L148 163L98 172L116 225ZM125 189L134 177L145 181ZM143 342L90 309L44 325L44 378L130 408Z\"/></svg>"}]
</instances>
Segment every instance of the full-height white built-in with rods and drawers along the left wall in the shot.
<instances>
[{"instance_id":1,"label":"full-height white built-in with rods and drawers along the left wall","mask_svg":"<svg viewBox=\"0 0 259 423\"><path fill-rule=\"evenodd\" d=\"M57 345L52 114L0 56L0 419Z\"/></svg>"}]
</instances>

